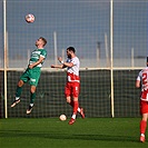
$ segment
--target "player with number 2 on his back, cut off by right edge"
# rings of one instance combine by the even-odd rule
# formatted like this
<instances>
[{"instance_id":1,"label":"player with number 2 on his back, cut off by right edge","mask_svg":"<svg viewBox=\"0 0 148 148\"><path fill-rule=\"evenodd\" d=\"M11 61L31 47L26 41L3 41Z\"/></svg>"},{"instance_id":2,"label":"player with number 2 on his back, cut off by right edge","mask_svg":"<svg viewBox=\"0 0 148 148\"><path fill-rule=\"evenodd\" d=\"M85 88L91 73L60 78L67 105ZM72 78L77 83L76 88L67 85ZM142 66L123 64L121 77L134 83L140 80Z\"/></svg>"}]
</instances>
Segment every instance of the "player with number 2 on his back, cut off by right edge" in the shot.
<instances>
[{"instance_id":1,"label":"player with number 2 on his back, cut off by right edge","mask_svg":"<svg viewBox=\"0 0 148 148\"><path fill-rule=\"evenodd\" d=\"M147 57L147 67L139 72L136 80L136 88L140 87L141 87L140 114L142 117L140 121L140 141L145 142L145 132L148 120L148 57Z\"/></svg>"}]
</instances>

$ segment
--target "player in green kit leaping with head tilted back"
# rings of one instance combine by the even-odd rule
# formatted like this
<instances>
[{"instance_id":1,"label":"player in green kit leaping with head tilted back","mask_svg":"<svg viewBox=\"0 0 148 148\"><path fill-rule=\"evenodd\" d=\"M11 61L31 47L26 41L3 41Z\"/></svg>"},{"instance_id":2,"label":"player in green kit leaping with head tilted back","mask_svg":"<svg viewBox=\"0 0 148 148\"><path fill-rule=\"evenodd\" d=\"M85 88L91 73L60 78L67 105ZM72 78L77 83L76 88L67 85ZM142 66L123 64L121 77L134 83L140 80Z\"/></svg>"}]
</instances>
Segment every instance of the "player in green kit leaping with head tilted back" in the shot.
<instances>
[{"instance_id":1,"label":"player in green kit leaping with head tilted back","mask_svg":"<svg viewBox=\"0 0 148 148\"><path fill-rule=\"evenodd\" d=\"M40 37L36 41L37 49L31 52L28 68L21 75L20 80L18 81L18 86L16 90L16 99L11 103L11 108L13 108L17 103L20 102L22 86L29 81L30 82L30 105L29 105L29 108L27 109L27 114L31 112L33 102L36 99L36 88L38 86L38 81L40 78L41 67L47 57L47 51L45 50L46 45L47 45L47 40L42 37Z\"/></svg>"}]
</instances>

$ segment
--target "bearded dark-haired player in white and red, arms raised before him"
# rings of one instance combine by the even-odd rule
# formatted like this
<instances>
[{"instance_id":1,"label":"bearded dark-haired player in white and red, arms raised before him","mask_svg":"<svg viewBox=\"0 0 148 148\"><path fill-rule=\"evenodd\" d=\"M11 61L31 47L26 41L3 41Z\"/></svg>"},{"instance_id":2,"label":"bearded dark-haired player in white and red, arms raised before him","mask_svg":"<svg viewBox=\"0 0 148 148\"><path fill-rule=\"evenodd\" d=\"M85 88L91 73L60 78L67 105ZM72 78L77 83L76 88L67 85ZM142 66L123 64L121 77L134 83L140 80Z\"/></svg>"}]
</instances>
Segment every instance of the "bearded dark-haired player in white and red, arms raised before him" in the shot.
<instances>
[{"instance_id":1,"label":"bearded dark-haired player in white and red, arms raised before him","mask_svg":"<svg viewBox=\"0 0 148 148\"><path fill-rule=\"evenodd\" d=\"M80 61L76 56L76 50L73 47L67 48L67 61L63 61L61 57L58 58L61 65L55 66L51 68L67 68L67 83L65 87L65 96L67 102L72 106L73 112L72 117L69 121L69 125L72 125L76 121L77 111L80 112L81 117L85 118L83 109L79 108L79 91L80 91L80 76L79 76L79 67Z\"/></svg>"}]
</instances>

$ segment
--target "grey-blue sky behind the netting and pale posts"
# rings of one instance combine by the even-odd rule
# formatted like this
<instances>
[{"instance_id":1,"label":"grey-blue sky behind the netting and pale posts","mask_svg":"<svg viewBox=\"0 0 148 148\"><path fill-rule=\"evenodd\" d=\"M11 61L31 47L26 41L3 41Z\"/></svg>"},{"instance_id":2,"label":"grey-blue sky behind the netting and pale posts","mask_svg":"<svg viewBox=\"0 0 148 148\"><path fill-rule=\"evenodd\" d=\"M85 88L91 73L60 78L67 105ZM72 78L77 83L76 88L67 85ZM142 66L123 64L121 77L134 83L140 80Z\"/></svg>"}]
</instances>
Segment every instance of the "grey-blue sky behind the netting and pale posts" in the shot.
<instances>
[{"instance_id":1,"label":"grey-blue sky behind the netting and pale posts","mask_svg":"<svg viewBox=\"0 0 148 148\"><path fill-rule=\"evenodd\" d=\"M2 12L2 1L0 1ZM73 46L81 58L95 58L97 42L100 57L105 58L105 33L109 48L109 0L7 0L7 30L9 56L27 57L34 49L39 37L48 40L49 58L53 56L53 31L57 32L58 55ZM33 13L36 21L27 23L24 16ZM146 57L148 40L148 2L146 0L115 0L114 2L114 57ZM2 13L0 17L2 38ZM2 39L1 43L2 45ZM2 52L2 46L0 46Z\"/></svg>"}]
</instances>

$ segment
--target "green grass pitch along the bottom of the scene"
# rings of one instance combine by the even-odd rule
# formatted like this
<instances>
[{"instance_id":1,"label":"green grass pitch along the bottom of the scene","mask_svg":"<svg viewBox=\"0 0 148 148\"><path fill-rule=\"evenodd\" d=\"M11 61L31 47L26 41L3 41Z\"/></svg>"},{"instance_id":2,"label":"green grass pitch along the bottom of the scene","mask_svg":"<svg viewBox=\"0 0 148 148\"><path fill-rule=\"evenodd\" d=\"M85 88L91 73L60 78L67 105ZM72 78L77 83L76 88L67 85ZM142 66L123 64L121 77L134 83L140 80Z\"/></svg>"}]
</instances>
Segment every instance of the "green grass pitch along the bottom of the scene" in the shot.
<instances>
[{"instance_id":1,"label":"green grass pitch along the bottom of the scene","mask_svg":"<svg viewBox=\"0 0 148 148\"><path fill-rule=\"evenodd\" d=\"M0 148L142 148L140 118L78 118L70 126L58 118L0 119ZM148 139L148 131L147 131Z\"/></svg>"}]
</instances>

